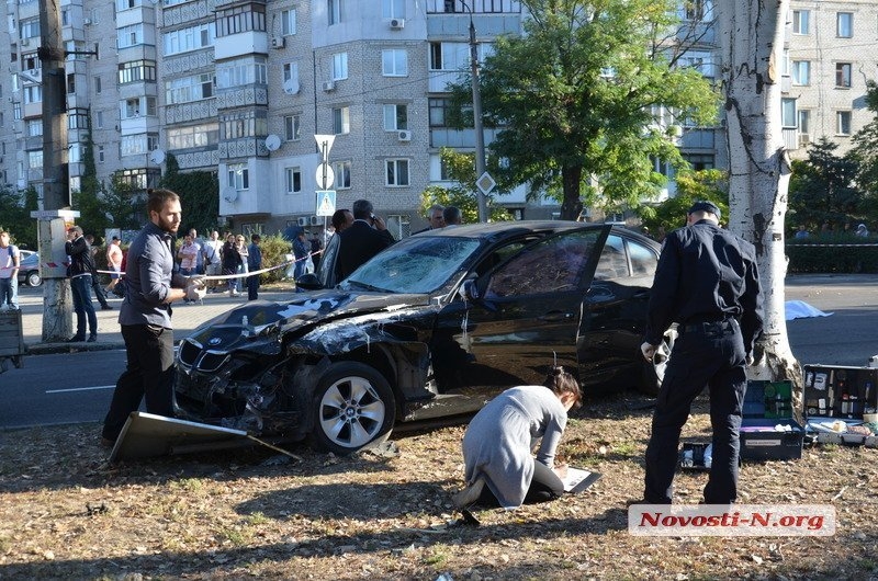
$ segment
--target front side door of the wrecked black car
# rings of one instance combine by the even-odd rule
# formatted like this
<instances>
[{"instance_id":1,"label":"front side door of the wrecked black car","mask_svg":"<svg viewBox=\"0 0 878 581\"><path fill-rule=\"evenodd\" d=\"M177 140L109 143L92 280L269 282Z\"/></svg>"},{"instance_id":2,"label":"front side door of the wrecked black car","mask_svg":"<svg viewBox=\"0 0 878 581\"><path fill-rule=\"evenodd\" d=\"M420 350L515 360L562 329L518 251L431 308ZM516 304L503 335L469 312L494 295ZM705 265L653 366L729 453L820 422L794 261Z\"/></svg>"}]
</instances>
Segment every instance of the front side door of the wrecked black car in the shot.
<instances>
[{"instance_id":1,"label":"front side door of the wrecked black car","mask_svg":"<svg viewBox=\"0 0 878 581\"><path fill-rule=\"evenodd\" d=\"M554 363L575 369L583 296L608 229L530 243L476 281L477 298L442 309L432 349L440 392L484 396L541 384Z\"/></svg>"}]
</instances>

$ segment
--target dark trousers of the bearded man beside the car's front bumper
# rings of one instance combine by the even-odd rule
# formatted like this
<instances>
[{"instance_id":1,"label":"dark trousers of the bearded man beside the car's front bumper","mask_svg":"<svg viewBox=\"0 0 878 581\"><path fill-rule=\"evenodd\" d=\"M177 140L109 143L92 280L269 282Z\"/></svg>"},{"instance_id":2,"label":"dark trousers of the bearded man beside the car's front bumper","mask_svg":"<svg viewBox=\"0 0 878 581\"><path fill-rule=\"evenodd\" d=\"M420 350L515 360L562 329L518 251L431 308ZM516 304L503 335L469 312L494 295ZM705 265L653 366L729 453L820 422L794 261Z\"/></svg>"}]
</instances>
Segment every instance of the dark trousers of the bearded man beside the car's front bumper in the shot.
<instances>
[{"instance_id":1,"label":"dark trousers of the bearded man beside the car's front bumper","mask_svg":"<svg viewBox=\"0 0 878 581\"><path fill-rule=\"evenodd\" d=\"M116 381L103 437L115 440L146 398L146 411L173 418L173 330L154 324L123 324L128 365Z\"/></svg>"}]
</instances>

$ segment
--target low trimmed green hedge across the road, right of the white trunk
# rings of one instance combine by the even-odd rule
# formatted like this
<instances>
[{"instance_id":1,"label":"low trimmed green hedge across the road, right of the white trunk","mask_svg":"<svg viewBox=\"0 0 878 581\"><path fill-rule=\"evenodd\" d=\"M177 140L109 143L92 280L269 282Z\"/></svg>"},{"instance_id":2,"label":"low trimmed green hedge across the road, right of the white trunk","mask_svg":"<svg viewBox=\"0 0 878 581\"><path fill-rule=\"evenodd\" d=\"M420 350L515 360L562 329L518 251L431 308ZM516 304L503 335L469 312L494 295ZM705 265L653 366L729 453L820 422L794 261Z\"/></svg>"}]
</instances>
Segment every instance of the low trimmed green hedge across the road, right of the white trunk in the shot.
<instances>
[{"instance_id":1,"label":"low trimmed green hedge across the road, right of the white trunk","mask_svg":"<svg viewBox=\"0 0 878 581\"><path fill-rule=\"evenodd\" d=\"M878 239L831 237L787 240L788 272L878 273Z\"/></svg>"}]
</instances>

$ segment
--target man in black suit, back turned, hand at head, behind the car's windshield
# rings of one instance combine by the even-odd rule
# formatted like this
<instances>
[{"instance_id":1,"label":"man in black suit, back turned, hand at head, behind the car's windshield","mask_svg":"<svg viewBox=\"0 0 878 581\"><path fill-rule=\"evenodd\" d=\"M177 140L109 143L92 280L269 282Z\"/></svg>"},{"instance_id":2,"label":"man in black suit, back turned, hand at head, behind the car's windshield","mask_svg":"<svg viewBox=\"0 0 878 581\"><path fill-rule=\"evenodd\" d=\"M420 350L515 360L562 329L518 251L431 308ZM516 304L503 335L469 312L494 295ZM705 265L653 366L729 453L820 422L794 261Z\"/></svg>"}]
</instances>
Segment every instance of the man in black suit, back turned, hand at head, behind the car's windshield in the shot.
<instances>
[{"instance_id":1,"label":"man in black suit, back turned, hand at head, behind the car's windshield","mask_svg":"<svg viewBox=\"0 0 878 581\"><path fill-rule=\"evenodd\" d=\"M364 263L396 240L387 225L372 213L372 203L358 200L351 206L353 224L339 236L340 247L336 259L336 280L344 281Z\"/></svg>"}]
</instances>

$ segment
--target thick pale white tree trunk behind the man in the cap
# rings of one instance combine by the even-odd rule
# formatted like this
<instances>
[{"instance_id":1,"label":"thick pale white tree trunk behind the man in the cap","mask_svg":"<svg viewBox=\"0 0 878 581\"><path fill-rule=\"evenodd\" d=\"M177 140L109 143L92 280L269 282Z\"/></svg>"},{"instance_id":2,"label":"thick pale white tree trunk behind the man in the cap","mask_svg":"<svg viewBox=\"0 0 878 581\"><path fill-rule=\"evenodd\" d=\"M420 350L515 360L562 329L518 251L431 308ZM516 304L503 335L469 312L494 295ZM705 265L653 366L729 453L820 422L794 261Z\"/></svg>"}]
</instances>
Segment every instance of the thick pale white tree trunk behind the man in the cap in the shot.
<instances>
[{"instance_id":1,"label":"thick pale white tree trunk behind the man in the cap","mask_svg":"<svg viewBox=\"0 0 878 581\"><path fill-rule=\"evenodd\" d=\"M795 385L801 410L801 369L785 320L787 260L784 218L790 162L784 146L780 73L789 0L717 2L722 35L722 76L729 147L729 228L756 247L765 297L765 333L751 379Z\"/></svg>"}]
</instances>

